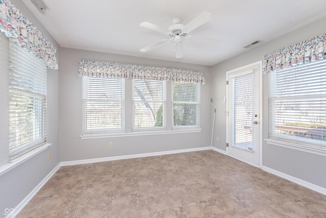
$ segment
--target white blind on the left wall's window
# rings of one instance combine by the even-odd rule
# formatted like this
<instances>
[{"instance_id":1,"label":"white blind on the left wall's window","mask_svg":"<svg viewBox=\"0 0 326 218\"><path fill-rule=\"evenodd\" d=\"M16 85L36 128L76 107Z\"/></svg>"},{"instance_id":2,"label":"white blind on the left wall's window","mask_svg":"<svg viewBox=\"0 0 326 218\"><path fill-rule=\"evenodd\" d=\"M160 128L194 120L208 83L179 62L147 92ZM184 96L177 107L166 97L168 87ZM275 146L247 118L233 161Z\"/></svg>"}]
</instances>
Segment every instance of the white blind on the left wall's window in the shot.
<instances>
[{"instance_id":1,"label":"white blind on the left wall's window","mask_svg":"<svg viewBox=\"0 0 326 218\"><path fill-rule=\"evenodd\" d=\"M46 143L46 64L9 45L9 162Z\"/></svg>"}]
</instances>

